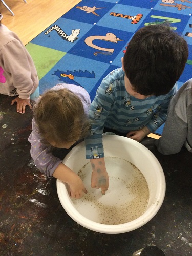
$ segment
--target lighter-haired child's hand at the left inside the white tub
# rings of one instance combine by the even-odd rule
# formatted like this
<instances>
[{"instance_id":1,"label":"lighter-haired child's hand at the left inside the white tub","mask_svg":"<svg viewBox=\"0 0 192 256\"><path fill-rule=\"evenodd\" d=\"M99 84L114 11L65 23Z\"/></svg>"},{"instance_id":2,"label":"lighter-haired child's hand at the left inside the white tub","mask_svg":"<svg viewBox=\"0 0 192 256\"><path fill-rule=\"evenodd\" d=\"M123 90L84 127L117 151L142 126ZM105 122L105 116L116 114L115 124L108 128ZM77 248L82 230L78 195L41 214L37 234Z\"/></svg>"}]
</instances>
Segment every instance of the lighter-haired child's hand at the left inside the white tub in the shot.
<instances>
[{"instance_id":1,"label":"lighter-haired child's hand at the left inside the white tub","mask_svg":"<svg viewBox=\"0 0 192 256\"><path fill-rule=\"evenodd\" d=\"M74 173L73 179L68 183L69 193L72 198L80 198L83 196L83 193L88 193L86 188L83 185L82 180L77 174Z\"/></svg>"}]
</instances>

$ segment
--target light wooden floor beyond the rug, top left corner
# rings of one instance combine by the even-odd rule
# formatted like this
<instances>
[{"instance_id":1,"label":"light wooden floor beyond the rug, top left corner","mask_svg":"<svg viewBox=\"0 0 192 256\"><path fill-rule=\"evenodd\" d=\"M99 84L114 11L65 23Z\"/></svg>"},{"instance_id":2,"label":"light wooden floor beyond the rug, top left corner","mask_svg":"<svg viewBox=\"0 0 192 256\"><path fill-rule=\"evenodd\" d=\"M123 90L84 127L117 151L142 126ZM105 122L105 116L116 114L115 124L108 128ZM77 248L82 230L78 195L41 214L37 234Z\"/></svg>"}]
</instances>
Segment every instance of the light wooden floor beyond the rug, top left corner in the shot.
<instances>
[{"instance_id":1,"label":"light wooden floor beyond the rug, top left corner","mask_svg":"<svg viewBox=\"0 0 192 256\"><path fill-rule=\"evenodd\" d=\"M26 45L80 0L4 0L15 16L0 2L2 23Z\"/></svg>"}]
</instances>

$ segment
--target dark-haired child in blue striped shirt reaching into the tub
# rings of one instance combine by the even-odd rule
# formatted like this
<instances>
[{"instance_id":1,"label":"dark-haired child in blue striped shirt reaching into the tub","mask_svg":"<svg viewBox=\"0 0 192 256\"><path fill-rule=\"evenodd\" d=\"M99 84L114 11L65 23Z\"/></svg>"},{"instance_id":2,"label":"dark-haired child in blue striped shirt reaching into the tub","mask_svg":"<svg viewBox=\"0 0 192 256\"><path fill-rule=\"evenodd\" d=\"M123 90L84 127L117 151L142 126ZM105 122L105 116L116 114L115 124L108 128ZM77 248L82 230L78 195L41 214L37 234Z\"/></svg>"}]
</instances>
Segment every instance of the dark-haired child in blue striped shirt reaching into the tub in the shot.
<instances>
[{"instance_id":1,"label":"dark-haired child in blue striped shirt reaching into the tub","mask_svg":"<svg viewBox=\"0 0 192 256\"><path fill-rule=\"evenodd\" d=\"M146 26L135 33L121 59L122 68L102 80L90 107L86 158L92 164L93 188L101 188L105 194L109 186L103 129L139 142L155 132L167 118L187 58L186 41L165 25Z\"/></svg>"}]
</instances>

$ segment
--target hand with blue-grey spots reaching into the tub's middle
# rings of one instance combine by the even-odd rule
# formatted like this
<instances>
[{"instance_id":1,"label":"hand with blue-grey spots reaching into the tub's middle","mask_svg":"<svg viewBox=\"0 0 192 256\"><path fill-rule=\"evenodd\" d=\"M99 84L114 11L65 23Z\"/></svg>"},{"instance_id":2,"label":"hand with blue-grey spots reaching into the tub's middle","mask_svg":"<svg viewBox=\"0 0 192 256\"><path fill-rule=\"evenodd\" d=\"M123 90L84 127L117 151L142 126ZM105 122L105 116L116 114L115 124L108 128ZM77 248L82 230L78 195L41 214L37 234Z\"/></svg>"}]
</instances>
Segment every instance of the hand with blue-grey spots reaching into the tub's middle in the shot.
<instances>
[{"instance_id":1,"label":"hand with blue-grey spots reaching into the tub's middle","mask_svg":"<svg viewBox=\"0 0 192 256\"><path fill-rule=\"evenodd\" d=\"M106 172L104 158L90 159L92 166L91 187L101 188L102 195L105 195L109 187L109 176Z\"/></svg>"}]
</instances>

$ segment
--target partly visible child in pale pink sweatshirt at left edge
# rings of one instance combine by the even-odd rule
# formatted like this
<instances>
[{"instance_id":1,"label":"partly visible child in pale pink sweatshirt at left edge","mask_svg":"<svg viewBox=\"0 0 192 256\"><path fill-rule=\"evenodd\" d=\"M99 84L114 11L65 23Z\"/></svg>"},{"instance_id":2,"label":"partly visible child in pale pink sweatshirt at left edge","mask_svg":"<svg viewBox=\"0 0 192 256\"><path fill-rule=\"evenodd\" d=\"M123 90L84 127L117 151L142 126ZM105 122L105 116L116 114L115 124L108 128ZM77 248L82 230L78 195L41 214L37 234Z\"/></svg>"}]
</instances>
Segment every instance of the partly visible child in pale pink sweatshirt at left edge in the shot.
<instances>
[{"instance_id":1,"label":"partly visible child in pale pink sweatshirt at left edge","mask_svg":"<svg viewBox=\"0 0 192 256\"><path fill-rule=\"evenodd\" d=\"M16 111L25 113L26 105L39 98L39 80L33 60L18 36L1 24L0 13L0 93L18 96ZM31 100L31 102L30 102Z\"/></svg>"}]
</instances>

